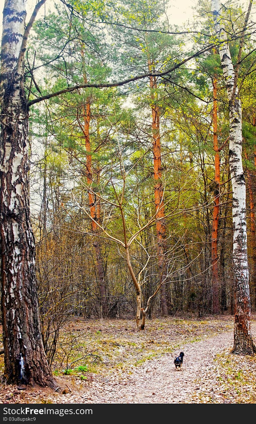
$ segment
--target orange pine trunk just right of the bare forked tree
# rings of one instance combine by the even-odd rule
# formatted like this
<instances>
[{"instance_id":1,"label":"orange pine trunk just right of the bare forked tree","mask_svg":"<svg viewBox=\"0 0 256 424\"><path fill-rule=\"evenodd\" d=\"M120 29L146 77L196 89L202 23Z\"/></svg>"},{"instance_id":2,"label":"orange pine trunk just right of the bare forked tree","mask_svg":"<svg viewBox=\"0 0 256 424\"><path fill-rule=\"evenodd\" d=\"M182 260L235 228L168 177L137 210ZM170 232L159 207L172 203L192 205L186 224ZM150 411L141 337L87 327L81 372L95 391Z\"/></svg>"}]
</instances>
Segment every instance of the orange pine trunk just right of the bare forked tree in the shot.
<instances>
[{"instance_id":1,"label":"orange pine trunk just right of the bare forked tree","mask_svg":"<svg viewBox=\"0 0 256 424\"><path fill-rule=\"evenodd\" d=\"M152 70L152 64L148 64L149 71ZM153 165L154 165L154 197L156 206L156 238L157 238L157 257L160 274L160 308L161 315L167 315L166 301L166 224L164 215L164 192L162 183L162 161L161 161L161 143L160 143L160 111L156 104L156 77L150 77L150 89L152 99L152 134L153 134Z\"/></svg>"}]
</instances>

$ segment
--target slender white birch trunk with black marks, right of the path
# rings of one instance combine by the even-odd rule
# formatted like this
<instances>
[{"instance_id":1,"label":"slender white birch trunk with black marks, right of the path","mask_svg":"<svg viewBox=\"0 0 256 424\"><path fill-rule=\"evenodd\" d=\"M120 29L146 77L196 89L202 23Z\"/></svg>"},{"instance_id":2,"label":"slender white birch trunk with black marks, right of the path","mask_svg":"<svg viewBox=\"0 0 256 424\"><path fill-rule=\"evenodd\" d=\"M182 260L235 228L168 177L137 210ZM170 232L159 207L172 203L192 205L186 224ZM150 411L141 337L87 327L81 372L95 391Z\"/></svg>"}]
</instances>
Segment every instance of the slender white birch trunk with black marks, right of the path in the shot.
<instances>
[{"instance_id":1,"label":"slender white birch trunk with black marks, right of the path","mask_svg":"<svg viewBox=\"0 0 256 424\"><path fill-rule=\"evenodd\" d=\"M248 12L252 1L250 1ZM216 35L220 41L219 54L229 100L229 165L233 191L233 261L234 261L234 348L237 354L254 354L250 326L250 293L247 258L245 176L242 167L242 107L237 95L237 72L231 60L225 29L220 17L220 1L211 0ZM248 18L248 14L246 19ZM241 37L245 32L245 27ZM240 51L242 44L240 41ZM238 55L239 57L239 55Z\"/></svg>"}]
</instances>

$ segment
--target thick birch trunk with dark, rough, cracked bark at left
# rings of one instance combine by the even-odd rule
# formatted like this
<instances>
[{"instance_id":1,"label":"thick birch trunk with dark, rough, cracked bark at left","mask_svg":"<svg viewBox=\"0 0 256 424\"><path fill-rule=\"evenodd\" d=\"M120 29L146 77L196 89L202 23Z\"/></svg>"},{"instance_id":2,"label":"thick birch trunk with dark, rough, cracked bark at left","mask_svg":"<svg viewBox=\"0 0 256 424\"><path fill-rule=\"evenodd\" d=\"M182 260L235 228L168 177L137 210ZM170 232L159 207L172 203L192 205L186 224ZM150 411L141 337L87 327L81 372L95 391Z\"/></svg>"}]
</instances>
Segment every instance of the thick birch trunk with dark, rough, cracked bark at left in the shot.
<instances>
[{"instance_id":1,"label":"thick birch trunk with dark, rough, cracked bark at left","mask_svg":"<svg viewBox=\"0 0 256 424\"><path fill-rule=\"evenodd\" d=\"M28 110L22 59L25 17L25 0L6 0L0 75L0 254L4 376L8 383L55 386L42 343L35 241L29 217Z\"/></svg>"}]
</instances>

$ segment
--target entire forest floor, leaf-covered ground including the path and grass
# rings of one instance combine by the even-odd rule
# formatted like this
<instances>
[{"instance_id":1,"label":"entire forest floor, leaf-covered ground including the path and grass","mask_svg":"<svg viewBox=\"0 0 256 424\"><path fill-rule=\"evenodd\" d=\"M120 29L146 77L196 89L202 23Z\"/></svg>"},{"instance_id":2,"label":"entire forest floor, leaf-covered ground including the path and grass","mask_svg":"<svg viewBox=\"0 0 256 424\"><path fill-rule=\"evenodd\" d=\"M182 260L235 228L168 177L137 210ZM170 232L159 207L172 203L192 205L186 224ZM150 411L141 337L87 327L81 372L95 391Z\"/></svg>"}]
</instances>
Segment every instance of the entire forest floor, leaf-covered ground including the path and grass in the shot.
<instances>
[{"instance_id":1,"label":"entire forest floor, leaf-covered ground including the path and grass","mask_svg":"<svg viewBox=\"0 0 256 424\"><path fill-rule=\"evenodd\" d=\"M233 323L230 315L157 318L138 332L133 320L76 319L52 364L58 391L3 381L0 403L256 403L256 356L231 354ZM251 324L256 343L255 315Z\"/></svg>"}]
</instances>

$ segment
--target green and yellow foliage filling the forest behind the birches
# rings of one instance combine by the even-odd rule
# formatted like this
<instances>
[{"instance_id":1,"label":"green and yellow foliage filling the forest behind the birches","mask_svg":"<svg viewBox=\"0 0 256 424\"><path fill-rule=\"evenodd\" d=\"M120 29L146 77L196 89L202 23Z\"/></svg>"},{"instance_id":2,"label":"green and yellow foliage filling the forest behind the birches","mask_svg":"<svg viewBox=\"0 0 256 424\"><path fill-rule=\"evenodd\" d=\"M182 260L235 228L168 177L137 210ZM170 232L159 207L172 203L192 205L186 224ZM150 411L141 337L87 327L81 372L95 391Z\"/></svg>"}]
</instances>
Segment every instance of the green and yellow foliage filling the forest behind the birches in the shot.
<instances>
[{"instance_id":1,"label":"green and yellow foliage filling the forest behind the birches","mask_svg":"<svg viewBox=\"0 0 256 424\"><path fill-rule=\"evenodd\" d=\"M181 36L167 33L181 28L169 25L165 6L162 0L122 0L114 3L72 0L65 12L61 7L37 21L34 25L36 36L28 52L28 60L30 64L33 63L36 52L36 61L48 63L44 73L39 74L41 79L37 88L33 84L31 88L28 77L26 90L30 93L30 99L36 98L39 91L44 95L75 84L120 81L149 71L157 74L205 47L207 42L216 41L216 37L211 35L214 28L208 1L200 1L198 9L202 18L202 33ZM223 12L232 38L230 49L234 63L239 40L232 34L241 27L240 12L232 8L225 8ZM104 23L106 21L112 24ZM251 49L249 42L247 48ZM250 70L254 58L247 56L247 53L242 56L239 84L243 83L240 92L243 136L253 147L256 134L250 123L255 117L256 97L253 89L255 75ZM52 280L56 281L58 296L57 283L61 285L59 276L67 274L69 278L73 275L70 269L72 263L74 268L79 269L71 282L74 290L79 292L79 307L75 311L97 313L99 281L90 221L90 193L93 206L100 206L99 220L102 225L97 235L100 236L104 269L106 275L110 276L109 298L111 301L114 298L113 305L117 304L118 310L119 299L125 294L128 311L133 309L134 295L130 293L131 281L124 266L124 251L114 241L106 240L103 234L106 231L111 237L123 241L119 207L122 199L128 238L138 232L131 245L131 261L136 276L145 265L147 255L150 257L142 275L142 279L145 278L142 298L147 301L147 296L153 294L159 279L156 223L152 221L150 226L143 228L156 213L154 192L156 184L162 184L167 229L166 266L171 270L167 284L170 302L173 302L170 311L176 311L181 296L185 299L181 308L185 310L202 304L209 308L209 300L206 300L202 287L209 291L211 286L209 264L215 178L211 120L212 81L215 77L218 80L217 136L219 146L223 146L220 151L220 214L223 224L219 239L222 240L223 235L223 243L226 243L223 247L224 259L228 262L231 261L228 258L232 257L229 230L232 224L228 212L231 186L228 144L225 144L229 134L228 99L222 75L219 55L209 50L164 78L156 77L153 88L152 80L150 88L150 78L142 78L122 87L81 87L47 100L45 106L42 103L42 106L31 108L30 136L32 142L35 140L35 144L42 144L43 158L39 159L38 168L45 184L37 193L39 199L45 196L40 216L38 220L35 219L39 245L42 245L42 238L45 237L43 218L47 232L54 234L45 248L46 253L43 252L40 257L40 281L46 279L50 282L47 299L52 293ZM87 116L88 106L90 114ZM156 107L160 113L162 169L159 178L154 175L152 151L152 109ZM89 134L85 134L88 119ZM32 190L33 184L31 186ZM45 211L46 217L43 217ZM79 252L75 259L68 250L70 234L74 235L70 249ZM57 254L55 244L58 247L64 245L65 248ZM80 254L83 257L82 271L79 268L81 265L78 265ZM66 261L69 263L67 267ZM49 264L53 264L53 273L47 271L51 269ZM192 271L189 264L192 264ZM47 272L49 275L45 276ZM200 281L198 275L202 276ZM42 298L43 293L44 290ZM87 293L91 296L89 300ZM88 304L90 307L87 308ZM64 306L68 309L69 301L65 300ZM114 306L113 314L117 313ZM96 335L99 334L100 331L97 331ZM87 370L67 368L66 371L72 374Z\"/></svg>"}]
</instances>

